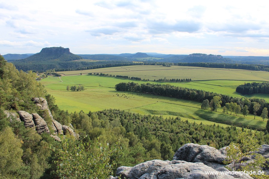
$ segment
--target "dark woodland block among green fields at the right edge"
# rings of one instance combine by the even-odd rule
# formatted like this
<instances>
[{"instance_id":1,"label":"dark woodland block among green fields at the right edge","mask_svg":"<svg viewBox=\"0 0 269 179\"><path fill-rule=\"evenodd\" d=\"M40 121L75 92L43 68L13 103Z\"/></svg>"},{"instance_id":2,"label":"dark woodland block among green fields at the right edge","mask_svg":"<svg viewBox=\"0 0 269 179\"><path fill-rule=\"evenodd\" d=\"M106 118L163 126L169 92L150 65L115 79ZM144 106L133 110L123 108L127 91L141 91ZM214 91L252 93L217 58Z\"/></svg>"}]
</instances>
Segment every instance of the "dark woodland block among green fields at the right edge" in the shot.
<instances>
[{"instance_id":1,"label":"dark woodland block among green fields at the right edge","mask_svg":"<svg viewBox=\"0 0 269 179\"><path fill-rule=\"evenodd\" d=\"M252 95L255 93L269 94L269 82L263 83L246 83L241 84L236 87L236 92L239 92L243 95Z\"/></svg>"}]
</instances>

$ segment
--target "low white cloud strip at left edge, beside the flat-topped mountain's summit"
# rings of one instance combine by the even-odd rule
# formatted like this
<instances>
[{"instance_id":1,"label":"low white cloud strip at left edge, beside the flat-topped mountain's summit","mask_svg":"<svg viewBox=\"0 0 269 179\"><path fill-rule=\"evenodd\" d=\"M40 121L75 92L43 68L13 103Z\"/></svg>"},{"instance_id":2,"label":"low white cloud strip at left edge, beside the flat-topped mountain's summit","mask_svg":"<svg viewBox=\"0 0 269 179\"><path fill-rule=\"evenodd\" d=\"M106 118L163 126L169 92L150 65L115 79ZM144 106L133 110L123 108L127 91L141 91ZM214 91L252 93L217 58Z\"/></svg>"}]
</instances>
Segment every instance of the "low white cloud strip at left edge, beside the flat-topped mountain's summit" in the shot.
<instances>
[{"instance_id":1,"label":"low white cloud strip at left edge, beside the flat-topped mountain's summit","mask_svg":"<svg viewBox=\"0 0 269 179\"><path fill-rule=\"evenodd\" d=\"M9 46L9 47L19 47L19 46L33 46L33 47L48 47L51 44L48 41L45 42L36 42L36 41L7 41L7 40L1 40L0 41L1 46Z\"/></svg>"}]
</instances>

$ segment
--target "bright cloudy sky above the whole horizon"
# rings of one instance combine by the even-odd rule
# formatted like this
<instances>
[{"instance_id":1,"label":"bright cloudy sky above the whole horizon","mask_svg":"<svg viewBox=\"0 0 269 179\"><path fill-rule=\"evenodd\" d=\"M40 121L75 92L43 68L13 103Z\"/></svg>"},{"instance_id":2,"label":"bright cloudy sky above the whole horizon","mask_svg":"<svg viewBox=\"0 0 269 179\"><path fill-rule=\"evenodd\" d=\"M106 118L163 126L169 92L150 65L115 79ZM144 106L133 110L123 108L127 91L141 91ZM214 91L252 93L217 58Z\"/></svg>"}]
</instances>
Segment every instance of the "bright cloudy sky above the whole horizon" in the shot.
<instances>
[{"instance_id":1,"label":"bright cloudy sky above the whole horizon","mask_svg":"<svg viewBox=\"0 0 269 179\"><path fill-rule=\"evenodd\" d=\"M75 54L269 56L268 9L242 0L0 0L0 53L61 46Z\"/></svg>"}]
</instances>

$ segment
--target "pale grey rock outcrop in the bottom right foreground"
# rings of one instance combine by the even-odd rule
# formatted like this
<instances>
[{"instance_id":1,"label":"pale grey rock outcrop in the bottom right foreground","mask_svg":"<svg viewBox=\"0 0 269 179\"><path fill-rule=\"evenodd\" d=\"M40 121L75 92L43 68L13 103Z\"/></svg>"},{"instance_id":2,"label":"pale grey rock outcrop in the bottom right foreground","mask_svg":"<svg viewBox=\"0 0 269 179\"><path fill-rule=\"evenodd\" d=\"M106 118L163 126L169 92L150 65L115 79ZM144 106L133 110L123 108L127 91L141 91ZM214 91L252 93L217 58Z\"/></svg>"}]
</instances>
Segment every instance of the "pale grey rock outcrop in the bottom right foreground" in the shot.
<instances>
[{"instance_id":1,"label":"pale grey rock outcrop in the bottom right foreground","mask_svg":"<svg viewBox=\"0 0 269 179\"><path fill-rule=\"evenodd\" d=\"M220 172L228 172L224 168L223 161L226 156L226 147L219 150L194 143L187 143L174 155L173 161L152 160L140 163L134 167L121 166L116 175L129 179L178 179L178 178L203 178L203 179L249 179L249 175L224 175ZM265 158L269 158L269 145L262 145L257 152ZM248 158L248 161L253 158ZM267 171L267 169L263 169ZM207 174L206 172L215 172ZM217 173L218 172L218 173ZM117 179L118 177L112 177Z\"/></svg>"}]
</instances>

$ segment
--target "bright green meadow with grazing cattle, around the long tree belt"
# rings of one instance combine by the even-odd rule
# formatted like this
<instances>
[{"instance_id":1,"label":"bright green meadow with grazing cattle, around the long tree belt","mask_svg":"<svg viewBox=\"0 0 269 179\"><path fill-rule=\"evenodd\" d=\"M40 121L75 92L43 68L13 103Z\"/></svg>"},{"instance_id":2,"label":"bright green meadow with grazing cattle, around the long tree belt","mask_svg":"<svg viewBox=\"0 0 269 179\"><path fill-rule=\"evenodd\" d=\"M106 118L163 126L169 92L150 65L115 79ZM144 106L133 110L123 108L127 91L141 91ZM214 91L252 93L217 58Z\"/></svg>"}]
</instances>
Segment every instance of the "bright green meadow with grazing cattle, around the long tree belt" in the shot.
<instances>
[{"instance_id":1,"label":"bright green meadow with grazing cattle, around the long tree belt","mask_svg":"<svg viewBox=\"0 0 269 179\"><path fill-rule=\"evenodd\" d=\"M248 115L246 118L243 118L242 115L241 117L236 117L219 112L214 113L211 111L205 111L200 108L201 103L194 101L186 101L152 94L119 92L114 90L115 84L128 81L131 80L96 75L74 75L62 76L61 79L59 77L49 77L42 79L41 82L45 85L48 93L55 97L56 104L60 107L60 109L68 110L69 112L80 110L88 112L90 110L98 111L112 108L138 112L140 114L166 115L171 117L180 116L183 120L188 119L192 122L195 121L196 123L203 122L203 124L214 124L213 122L217 122L222 123L221 125L237 124L239 126L250 126L258 129L262 129L266 125L266 121L262 121L262 119L258 116L256 116L256 120L253 120L253 115ZM145 83L145 81L134 82L138 82L140 84ZM202 83L197 83L200 86L196 85L193 88L208 88L207 86L215 87L218 84L218 81L201 82ZM225 91L230 88L229 86L233 87L236 83L242 83L242 81L230 82L232 82L232 85L218 85L217 87L220 90ZM228 82L226 83L230 84ZM187 84L187 82L173 83L172 85L176 86L176 84L190 85ZM84 85L85 91L66 91L67 85ZM217 88L215 90L217 90ZM214 88L212 88L211 91L214 91ZM240 95L238 94L238 96ZM221 112L222 109L218 109L218 111Z\"/></svg>"}]
</instances>

